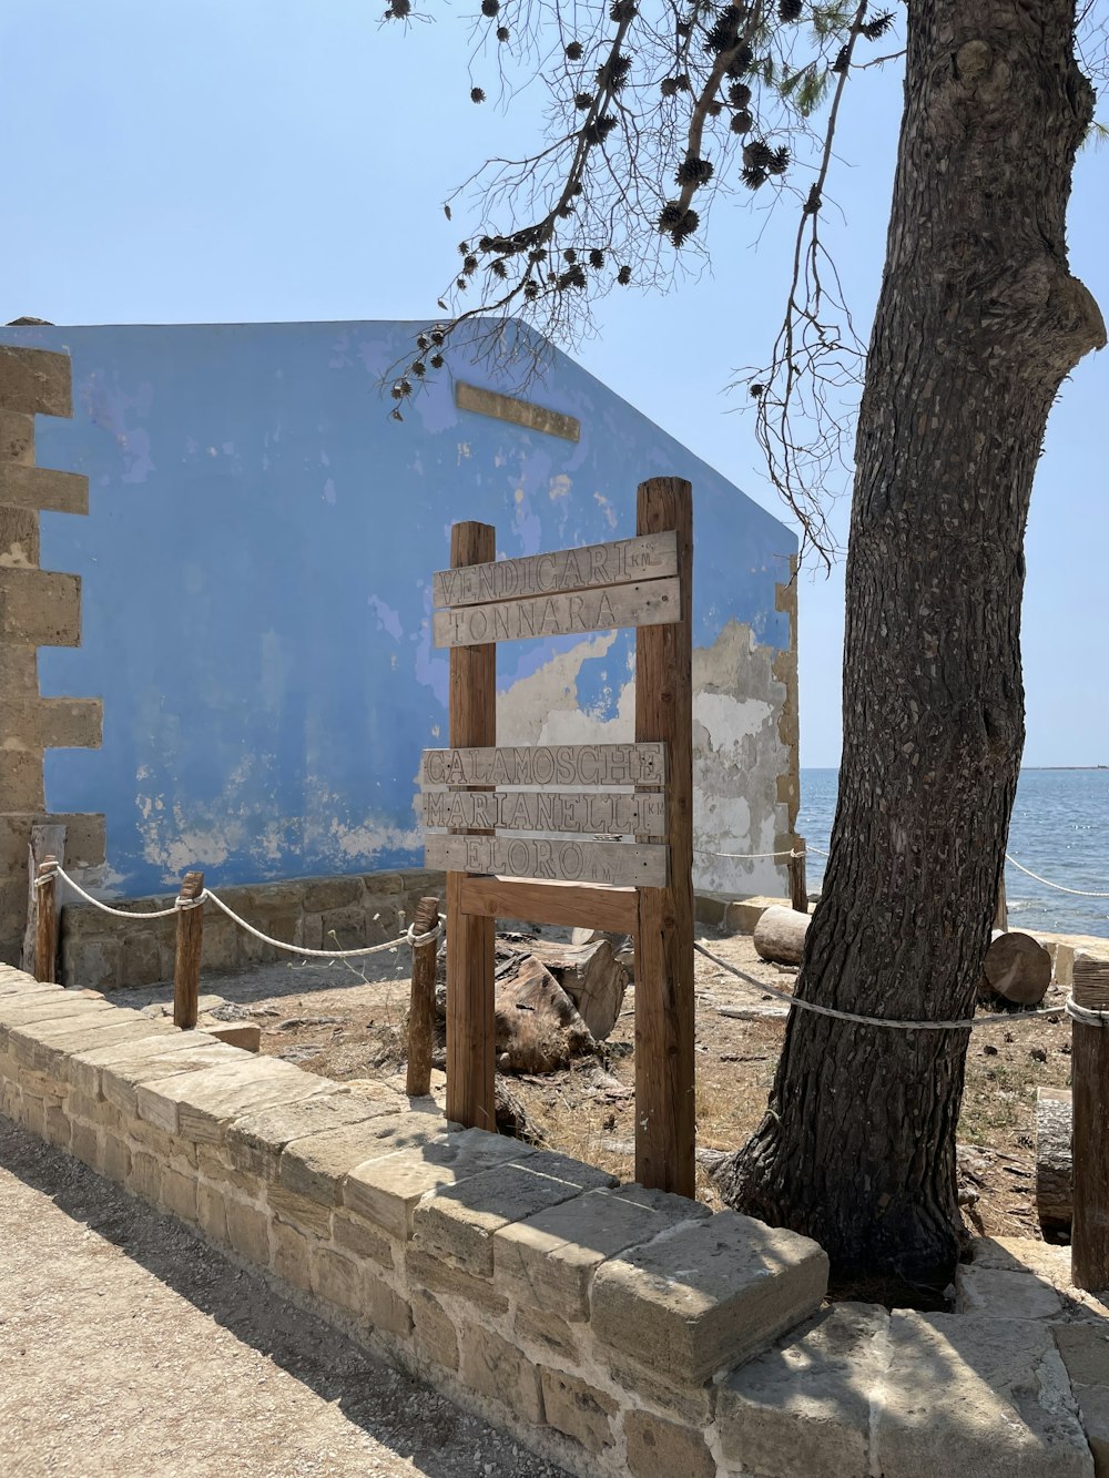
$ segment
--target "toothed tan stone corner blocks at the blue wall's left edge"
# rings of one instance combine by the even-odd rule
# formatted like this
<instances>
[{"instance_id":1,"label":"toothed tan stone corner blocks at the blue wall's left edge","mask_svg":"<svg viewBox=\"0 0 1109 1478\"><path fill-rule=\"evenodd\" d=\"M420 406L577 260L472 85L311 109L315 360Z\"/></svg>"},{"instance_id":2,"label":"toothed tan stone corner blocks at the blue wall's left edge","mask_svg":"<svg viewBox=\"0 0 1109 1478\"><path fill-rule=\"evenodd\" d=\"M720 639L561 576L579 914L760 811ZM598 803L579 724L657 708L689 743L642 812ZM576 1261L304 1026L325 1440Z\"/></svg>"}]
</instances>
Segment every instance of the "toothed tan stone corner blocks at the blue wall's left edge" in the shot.
<instances>
[{"instance_id":1,"label":"toothed tan stone corner blocks at the blue wall's left edge","mask_svg":"<svg viewBox=\"0 0 1109 1478\"><path fill-rule=\"evenodd\" d=\"M27 919L37 822L64 823L71 866L104 863L104 816L47 816L43 755L99 748L101 701L38 692L38 647L81 643L78 575L38 566L40 514L89 511L89 479L35 466L35 415L69 417L69 358L0 344L0 961L15 964Z\"/></svg>"}]
</instances>

